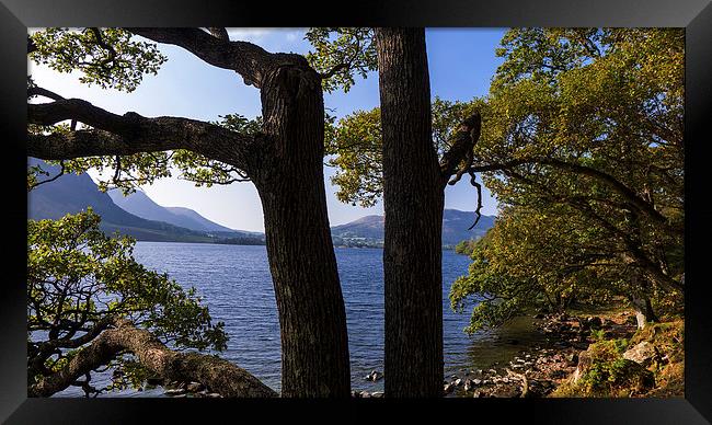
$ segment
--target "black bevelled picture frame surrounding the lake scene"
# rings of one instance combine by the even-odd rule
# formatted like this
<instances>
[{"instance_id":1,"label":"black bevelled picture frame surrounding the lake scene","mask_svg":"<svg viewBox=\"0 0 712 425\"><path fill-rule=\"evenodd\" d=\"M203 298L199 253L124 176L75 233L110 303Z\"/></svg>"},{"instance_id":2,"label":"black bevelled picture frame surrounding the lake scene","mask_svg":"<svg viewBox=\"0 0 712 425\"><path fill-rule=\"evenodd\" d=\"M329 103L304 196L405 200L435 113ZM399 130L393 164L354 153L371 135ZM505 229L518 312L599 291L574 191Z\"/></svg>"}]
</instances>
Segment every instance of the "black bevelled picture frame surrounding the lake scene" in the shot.
<instances>
[{"instance_id":1,"label":"black bevelled picture frame surrounding the lake scene","mask_svg":"<svg viewBox=\"0 0 712 425\"><path fill-rule=\"evenodd\" d=\"M27 423L135 423L323 418L370 421L395 407L399 421L430 411L444 421L482 422L514 417L529 423L704 424L712 422L712 314L705 289L705 242L712 208L708 197L708 120L712 116L712 4L709 0L566 0L460 2L406 0L353 4L335 2L230 2L151 0L0 0L0 131L5 211L0 284L0 421ZM446 399L428 403L352 400L330 403L297 400L216 399L28 399L26 397L25 262L26 31L37 26L676 26L686 28L686 370L685 399ZM299 407L299 409L298 409ZM457 409L457 411L450 411ZM375 413L375 411L378 411ZM220 420L225 422L226 420Z\"/></svg>"}]
</instances>

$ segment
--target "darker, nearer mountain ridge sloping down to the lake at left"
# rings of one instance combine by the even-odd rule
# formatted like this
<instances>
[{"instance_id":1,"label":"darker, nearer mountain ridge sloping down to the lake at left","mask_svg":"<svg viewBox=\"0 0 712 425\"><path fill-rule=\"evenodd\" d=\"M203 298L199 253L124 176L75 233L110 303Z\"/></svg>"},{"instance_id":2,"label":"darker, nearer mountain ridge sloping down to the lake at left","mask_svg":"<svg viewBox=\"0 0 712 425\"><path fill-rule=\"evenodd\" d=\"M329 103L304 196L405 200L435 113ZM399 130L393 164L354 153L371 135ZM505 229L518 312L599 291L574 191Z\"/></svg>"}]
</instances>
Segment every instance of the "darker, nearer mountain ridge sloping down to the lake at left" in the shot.
<instances>
[{"instance_id":1,"label":"darker, nearer mountain ridge sloping down to the lake at left","mask_svg":"<svg viewBox=\"0 0 712 425\"><path fill-rule=\"evenodd\" d=\"M43 170L49 172L50 176L59 172L58 166L48 165L34 158L28 159L28 164L41 165ZM100 227L103 231L107 233L119 231L122 234L141 241L264 243L261 238L246 233L230 231L229 234L220 233L220 237L216 237L205 231L141 218L114 204L111 196L102 193L87 173L65 174L54 182L37 186L27 194L27 218L32 219L58 219L67 214L85 210L88 206L102 217Z\"/></svg>"}]
</instances>

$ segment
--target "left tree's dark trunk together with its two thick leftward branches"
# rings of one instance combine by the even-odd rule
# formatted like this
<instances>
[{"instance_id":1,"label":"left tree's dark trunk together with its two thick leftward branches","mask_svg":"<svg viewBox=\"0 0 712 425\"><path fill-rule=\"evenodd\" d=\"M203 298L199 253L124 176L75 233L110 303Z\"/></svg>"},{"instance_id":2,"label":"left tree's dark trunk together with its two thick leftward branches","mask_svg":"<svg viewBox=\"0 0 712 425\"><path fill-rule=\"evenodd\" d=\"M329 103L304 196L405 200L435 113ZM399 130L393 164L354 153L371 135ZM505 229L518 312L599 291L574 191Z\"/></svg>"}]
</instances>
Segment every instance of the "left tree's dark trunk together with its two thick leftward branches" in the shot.
<instances>
[{"instance_id":1,"label":"left tree's dark trunk together with its two thick leftward branches","mask_svg":"<svg viewBox=\"0 0 712 425\"><path fill-rule=\"evenodd\" d=\"M240 135L185 118L118 116L87 102L60 100L46 106L28 105L28 120L48 125L80 118L94 129L68 136L30 135L28 153L70 159L183 148L243 170L254 182L264 209L279 311L283 395L349 397L346 313L323 182L321 77L302 56L271 54L197 28L129 31L234 70L245 83L260 89L262 131Z\"/></svg>"}]
</instances>

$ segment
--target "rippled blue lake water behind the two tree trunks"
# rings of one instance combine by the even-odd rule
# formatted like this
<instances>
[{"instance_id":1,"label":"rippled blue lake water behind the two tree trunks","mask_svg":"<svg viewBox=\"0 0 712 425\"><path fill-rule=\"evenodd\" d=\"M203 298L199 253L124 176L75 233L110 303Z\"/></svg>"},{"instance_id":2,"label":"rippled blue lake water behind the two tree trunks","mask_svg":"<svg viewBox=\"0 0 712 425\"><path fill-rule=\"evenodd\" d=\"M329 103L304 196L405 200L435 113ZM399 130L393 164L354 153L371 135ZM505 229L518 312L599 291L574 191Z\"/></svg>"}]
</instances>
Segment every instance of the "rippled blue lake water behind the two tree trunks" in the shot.
<instances>
[{"instance_id":1,"label":"rippled blue lake water behind the two tree trunks","mask_svg":"<svg viewBox=\"0 0 712 425\"><path fill-rule=\"evenodd\" d=\"M335 252L346 303L352 388L382 390L382 380L364 379L374 369L383 370L382 250L336 249ZM226 324L230 341L220 355L279 391L279 321L265 246L138 242L134 254L148 268L168 273L186 288L195 287L213 319ZM472 336L462 332L469 323L469 311L452 312L448 292L452 282L467 274L469 263L464 255L443 252L446 375L463 367L485 368L495 361L509 360L522 348L522 343L535 343L532 338L537 338L530 332L529 321ZM512 340L519 344L510 344ZM99 383L101 378L93 381ZM156 397L161 393L157 389L113 395ZM79 394L77 389L68 389L58 395L76 394Z\"/></svg>"}]
</instances>

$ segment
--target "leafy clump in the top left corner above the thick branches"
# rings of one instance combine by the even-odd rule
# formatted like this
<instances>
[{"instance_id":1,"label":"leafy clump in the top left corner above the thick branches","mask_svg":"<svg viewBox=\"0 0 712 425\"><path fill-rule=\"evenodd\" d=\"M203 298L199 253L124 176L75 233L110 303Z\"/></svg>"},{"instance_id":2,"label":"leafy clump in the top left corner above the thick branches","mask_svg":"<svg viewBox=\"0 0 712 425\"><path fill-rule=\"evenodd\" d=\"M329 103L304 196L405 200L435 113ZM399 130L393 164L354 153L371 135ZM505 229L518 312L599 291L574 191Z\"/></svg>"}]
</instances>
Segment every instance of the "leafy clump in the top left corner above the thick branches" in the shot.
<instances>
[{"instance_id":1,"label":"leafy clump in the top left corner above the thick branches","mask_svg":"<svg viewBox=\"0 0 712 425\"><path fill-rule=\"evenodd\" d=\"M166 60L156 44L122 28L45 28L30 37L36 48L32 60L59 72L79 70L79 81L103 89L131 92Z\"/></svg>"}]
</instances>

